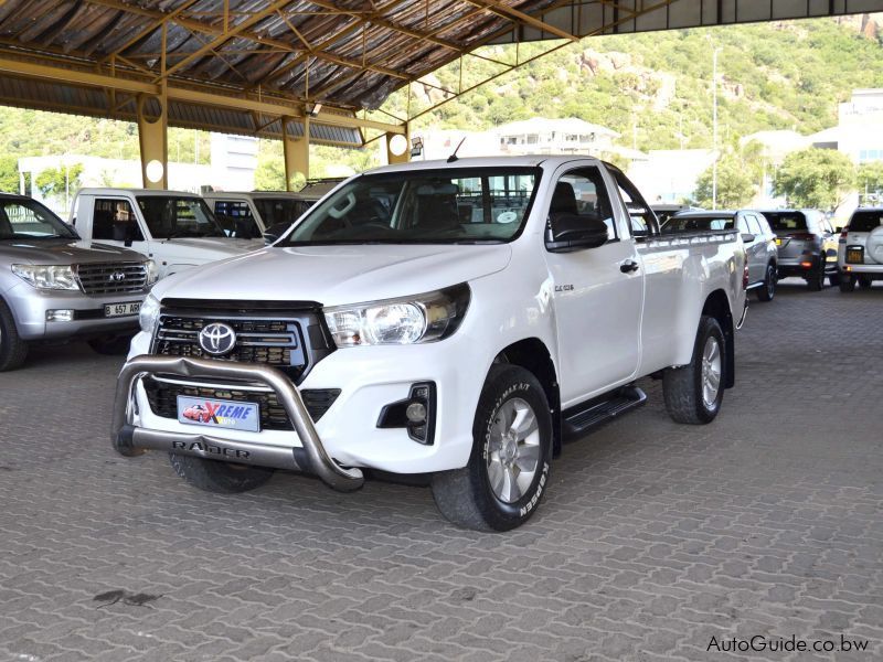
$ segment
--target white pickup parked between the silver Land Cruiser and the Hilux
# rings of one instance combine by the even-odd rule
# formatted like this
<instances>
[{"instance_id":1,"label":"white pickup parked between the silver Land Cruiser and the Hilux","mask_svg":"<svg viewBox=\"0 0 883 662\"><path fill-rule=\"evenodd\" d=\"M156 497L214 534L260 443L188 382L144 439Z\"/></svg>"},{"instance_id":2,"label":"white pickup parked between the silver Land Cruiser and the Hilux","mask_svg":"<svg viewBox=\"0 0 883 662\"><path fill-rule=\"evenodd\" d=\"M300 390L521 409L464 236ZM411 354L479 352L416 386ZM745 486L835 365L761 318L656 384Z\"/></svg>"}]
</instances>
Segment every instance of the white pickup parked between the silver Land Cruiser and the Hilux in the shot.
<instances>
[{"instance_id":1,"label":"white pickup parked between the silver Land Cruiser and the Hilux","mask_svg":"<svg viewBox=\"0 0 883 662\"><path fill-rule=\"evenodd\" d=\"M180 191L81 189L71 224L87 242L125 246L151 258L160 278L264 245L228 237L201 196Z\"/></svg>"}]
</instances>

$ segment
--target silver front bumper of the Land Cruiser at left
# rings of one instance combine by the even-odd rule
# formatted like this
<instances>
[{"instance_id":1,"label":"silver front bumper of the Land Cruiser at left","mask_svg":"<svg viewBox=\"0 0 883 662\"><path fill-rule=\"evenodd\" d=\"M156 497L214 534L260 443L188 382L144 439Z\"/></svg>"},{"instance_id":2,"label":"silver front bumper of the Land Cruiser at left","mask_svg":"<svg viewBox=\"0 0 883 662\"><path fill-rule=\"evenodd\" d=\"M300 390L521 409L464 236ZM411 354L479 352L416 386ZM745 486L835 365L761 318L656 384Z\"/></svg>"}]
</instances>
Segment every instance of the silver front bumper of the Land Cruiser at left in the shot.
<instances>
[{"instance_id":1,"label":"silver front bumper of the Land Cruiser at left","mask_svg":"<svg viewBox=\"0 0 883 662\"><path fill-rule=\"evenodd\" d=\"M81 291L42 291L29 285L13 287L4 297L24 340L62 340L88 335L111 335L138 328L138 316L104 317L109 303L142 302L146 292L93 297ZM50 310L73 310L71 321L46 321Z\"/></svg>"}]
</instances>

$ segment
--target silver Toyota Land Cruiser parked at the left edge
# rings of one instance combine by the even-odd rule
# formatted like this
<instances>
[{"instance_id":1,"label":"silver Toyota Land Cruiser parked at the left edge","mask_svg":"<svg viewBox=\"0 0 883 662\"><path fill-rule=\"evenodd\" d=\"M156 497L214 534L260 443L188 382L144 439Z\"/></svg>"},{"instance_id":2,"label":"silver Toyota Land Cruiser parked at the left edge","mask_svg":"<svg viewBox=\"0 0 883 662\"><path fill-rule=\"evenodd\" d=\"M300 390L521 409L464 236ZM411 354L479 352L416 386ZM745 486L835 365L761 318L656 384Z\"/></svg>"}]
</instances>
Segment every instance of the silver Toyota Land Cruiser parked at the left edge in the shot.
<instances>
[{"instance_id":1,"label":"silver Toyota Land Cruiser parked at the left edge","mask_svg":"<svg viewBox=\"0 0 883 662\"><path fill-rule=\"evenodd\" d=\"M84 243L41 203L0 194L0 371L18 367L39 341L87 340L125 353L157 279L152 260Z\"/></svg>"}]
</instances>

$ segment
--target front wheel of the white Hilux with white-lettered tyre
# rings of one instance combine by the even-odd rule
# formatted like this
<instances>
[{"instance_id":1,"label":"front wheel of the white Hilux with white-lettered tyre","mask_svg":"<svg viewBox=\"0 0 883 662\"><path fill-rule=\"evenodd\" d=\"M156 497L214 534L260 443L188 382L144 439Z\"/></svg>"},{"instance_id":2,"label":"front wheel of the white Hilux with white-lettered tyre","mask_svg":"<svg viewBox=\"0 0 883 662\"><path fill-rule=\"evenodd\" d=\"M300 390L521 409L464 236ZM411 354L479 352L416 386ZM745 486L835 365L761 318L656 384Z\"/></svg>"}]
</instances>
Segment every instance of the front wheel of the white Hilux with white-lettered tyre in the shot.
<instances>
[{"instance_id":1,"label":"front wheel of the white Hilux with white-lettered tyre","mask_svg":"<svg viewBox=\"0 0 883 662\"><path fill-rule=\"evenodd\" d=\"M509 531L536 511L549 483L552 414L536 377L517 365L491 366L462 469L433 476L433 498L458 526Z\"/></svg>"}]
</instances>

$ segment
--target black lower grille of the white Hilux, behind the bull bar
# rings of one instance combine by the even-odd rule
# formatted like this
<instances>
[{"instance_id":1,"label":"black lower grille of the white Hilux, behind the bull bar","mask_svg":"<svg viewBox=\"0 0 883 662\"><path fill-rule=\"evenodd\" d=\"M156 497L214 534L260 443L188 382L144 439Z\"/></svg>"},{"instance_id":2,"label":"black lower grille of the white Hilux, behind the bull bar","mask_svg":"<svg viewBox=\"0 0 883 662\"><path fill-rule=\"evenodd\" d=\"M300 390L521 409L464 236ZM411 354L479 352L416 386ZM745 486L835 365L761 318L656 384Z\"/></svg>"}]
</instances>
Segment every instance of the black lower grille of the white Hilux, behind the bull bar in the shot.
<instances>
[{"instance_id":1,"label":"black lower grille of the white Hilux, behind the bull bar","mask_svg":"<svg viewBox=\"0 0 883 662\"><path fill-rule=\"evenodd\" d=\"M255 403L260 409L262 430L294 430L294 426L279 404L274 392L246 391L212 385L195 386L163 378L146 377L143 380L150 409L163 418L178 418L178 396L204 397L209 399L226 399L241 403ZM313 421L318 421L340 395L340 388L305 388L300 392L307 412Z\"/></svg>"}]
</instances>

